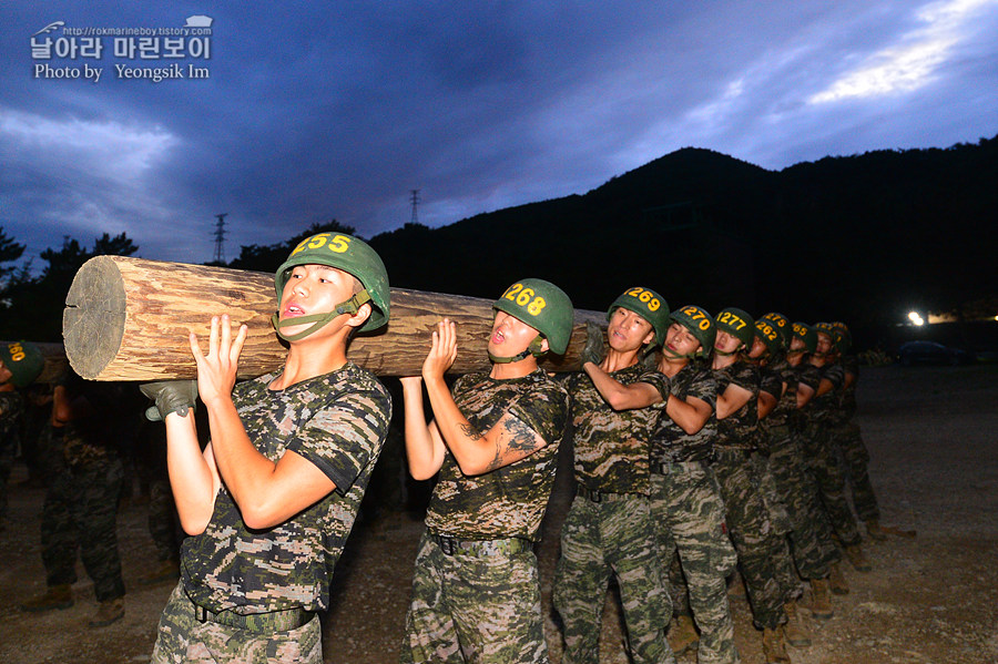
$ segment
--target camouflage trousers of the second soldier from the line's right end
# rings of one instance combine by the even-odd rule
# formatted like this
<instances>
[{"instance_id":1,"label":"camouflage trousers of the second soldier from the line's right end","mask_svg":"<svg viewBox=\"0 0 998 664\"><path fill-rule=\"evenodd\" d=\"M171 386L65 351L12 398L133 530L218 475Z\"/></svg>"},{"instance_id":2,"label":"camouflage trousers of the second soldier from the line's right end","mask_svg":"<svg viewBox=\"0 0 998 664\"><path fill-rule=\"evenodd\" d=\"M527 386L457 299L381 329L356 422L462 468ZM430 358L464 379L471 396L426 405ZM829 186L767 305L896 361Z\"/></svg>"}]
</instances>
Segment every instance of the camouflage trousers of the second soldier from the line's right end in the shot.
<instances>
[{"instance_id":1,"label":"camouflage trousers of the second soldier from the line's right end","mask_svg":"<svg viewBox=\"0 0 998 664\"><path fill-rule=\"evenodd\" d=\"M798 438L808 468L822 497L822 504L832 530L843 546L852 546L862 541L856 528L856 518L845 496L845 471L838 457L838 450L832 441L831 429L825 423L812 423Z\"/></svg>"}]
</instances>

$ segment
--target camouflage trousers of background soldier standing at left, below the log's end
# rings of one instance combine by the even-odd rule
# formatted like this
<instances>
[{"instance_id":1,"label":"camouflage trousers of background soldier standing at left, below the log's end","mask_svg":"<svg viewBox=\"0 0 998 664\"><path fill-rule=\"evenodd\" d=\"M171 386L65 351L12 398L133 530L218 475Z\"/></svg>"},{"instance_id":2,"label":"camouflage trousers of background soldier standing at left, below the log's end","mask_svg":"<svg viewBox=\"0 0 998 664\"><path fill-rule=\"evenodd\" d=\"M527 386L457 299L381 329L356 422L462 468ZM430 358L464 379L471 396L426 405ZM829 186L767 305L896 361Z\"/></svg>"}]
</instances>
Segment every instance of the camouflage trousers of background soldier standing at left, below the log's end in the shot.
<instances>
[{"instance_id":1,"label":"camouflage trousers of background soldier standing at left, below the log's end","mask_svg":"<svg viewBox=\"0 0 998 664\"><path fill-rule=\"evenodd\" d=\"M42 562L50 586L75 583L79 551L98 601L124 595L116 530L123 478L118 457L52 476L41 522Z\"/></svg>"}]
</instances>

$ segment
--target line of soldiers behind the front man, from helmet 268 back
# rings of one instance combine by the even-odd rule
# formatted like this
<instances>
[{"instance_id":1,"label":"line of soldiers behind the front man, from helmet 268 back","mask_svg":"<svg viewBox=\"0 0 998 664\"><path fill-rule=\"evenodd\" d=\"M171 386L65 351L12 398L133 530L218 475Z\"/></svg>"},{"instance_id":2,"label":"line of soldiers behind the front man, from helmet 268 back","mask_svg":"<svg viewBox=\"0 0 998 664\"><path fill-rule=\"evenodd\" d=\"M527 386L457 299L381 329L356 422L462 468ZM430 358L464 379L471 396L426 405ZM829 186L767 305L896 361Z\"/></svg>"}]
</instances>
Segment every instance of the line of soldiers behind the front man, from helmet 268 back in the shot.
<instances>
[{"instance_id":1,"label":"line of soldiers behind the front man, from helmet 268 back","mask_svg":"<svg viewBox=\"0 0 998 664\"><path fill-rule=\"evenodd\" d=\"M410 470L440 481L400 661L547 661L531 543L566 430L577 493L553 582L562 662L599 661L611 574L633 662L674 662L694 644L701 663L739 662L727 593L736 570L766 661L790 662L787 643L809 644L803 582L812 615L829 619L831 595L848 592L839 561L870 569L841 456L868 533L884 537L852 421L848 328L737 308L670 311L634 287L609 307L605 336L589 326L582 371L547 376L537 357L564 349L568 296L522 279L495 308L492 370L464 377L452 396L442 376L457 354L454 324L434 333L422 378L436 420L424 425L419 378L404 380Z\"/></svg>"}]
</instances>

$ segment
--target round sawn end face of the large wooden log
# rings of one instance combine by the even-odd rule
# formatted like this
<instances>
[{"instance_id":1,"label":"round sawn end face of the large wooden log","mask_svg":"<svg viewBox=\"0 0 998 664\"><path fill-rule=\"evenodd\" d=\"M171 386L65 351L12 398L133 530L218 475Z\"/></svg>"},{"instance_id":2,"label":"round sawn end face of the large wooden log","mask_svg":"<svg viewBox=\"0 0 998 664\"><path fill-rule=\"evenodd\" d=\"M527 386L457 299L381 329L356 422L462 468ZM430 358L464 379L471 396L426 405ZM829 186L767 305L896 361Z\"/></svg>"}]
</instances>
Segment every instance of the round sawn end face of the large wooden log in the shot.
<instances>
[{"instance_id":1,"label":"round sawn end face of the large wooden log","mask_svg":"<svg viewBox=\"0 0 998 664\"><path fill-rule=\"evenodd\" d=\"M65 296L62 333L67 358L83 378L95 378L121 348L125 290L118 265L108 256L91 258L77 273ZM85 353L75 351L85 349Z\"/></svg>"}]
</instances>

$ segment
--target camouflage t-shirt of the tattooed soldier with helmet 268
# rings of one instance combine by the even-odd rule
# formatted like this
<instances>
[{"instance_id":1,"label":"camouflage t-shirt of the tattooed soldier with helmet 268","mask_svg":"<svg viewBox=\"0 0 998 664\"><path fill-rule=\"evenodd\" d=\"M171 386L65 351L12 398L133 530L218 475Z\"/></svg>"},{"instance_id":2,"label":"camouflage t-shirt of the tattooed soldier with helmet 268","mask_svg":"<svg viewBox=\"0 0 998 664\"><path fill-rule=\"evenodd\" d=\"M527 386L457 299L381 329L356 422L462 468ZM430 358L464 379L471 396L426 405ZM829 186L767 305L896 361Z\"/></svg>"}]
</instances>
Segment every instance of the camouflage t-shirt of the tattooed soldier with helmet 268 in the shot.
<instances>
[{"instance_id":1,"label":"camouflage t-shirt of the tattooed soldier with helmet 268","mask_svg":"<svg viewBox=\"0 0 998 664\"><path fill-rule=\"evenodd\" d=\"M547 445L519 461L478 476L464 474L447 450L426 512L427 529L465 540L536 541L554 486L558 446L568 423L568 390L538 369L507 380L488 374L462 376L451 394L478 431L488 431L508 412Z\"/></svg>"}]
</instances>

